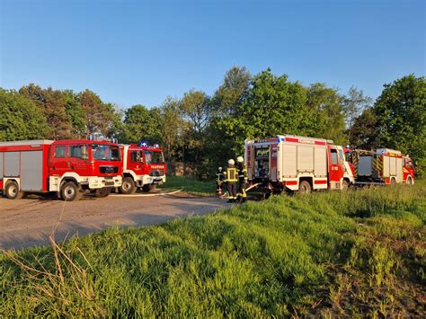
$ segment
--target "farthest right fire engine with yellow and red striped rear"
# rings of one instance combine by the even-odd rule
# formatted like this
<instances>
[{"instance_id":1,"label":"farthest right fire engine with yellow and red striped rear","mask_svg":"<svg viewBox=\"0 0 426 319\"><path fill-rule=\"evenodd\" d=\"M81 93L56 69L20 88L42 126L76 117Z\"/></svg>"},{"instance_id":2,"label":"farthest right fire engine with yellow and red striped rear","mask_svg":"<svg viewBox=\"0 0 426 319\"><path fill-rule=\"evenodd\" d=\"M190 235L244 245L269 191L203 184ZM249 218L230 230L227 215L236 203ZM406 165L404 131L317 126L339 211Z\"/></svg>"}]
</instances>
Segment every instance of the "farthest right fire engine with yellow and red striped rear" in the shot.
<instances>
[{"instance_id":1,"label":"farthest right fire engine with yellow and red striped rear","mask_svg":"<svg viewBox=\"0 0 426 319\"><path fill-rule=\"evenodd\" d=\"M351 161L357 185L414 183L413 160L400 151L389 148L356 149L351 154Z\"/></svg>"}]
</instances>

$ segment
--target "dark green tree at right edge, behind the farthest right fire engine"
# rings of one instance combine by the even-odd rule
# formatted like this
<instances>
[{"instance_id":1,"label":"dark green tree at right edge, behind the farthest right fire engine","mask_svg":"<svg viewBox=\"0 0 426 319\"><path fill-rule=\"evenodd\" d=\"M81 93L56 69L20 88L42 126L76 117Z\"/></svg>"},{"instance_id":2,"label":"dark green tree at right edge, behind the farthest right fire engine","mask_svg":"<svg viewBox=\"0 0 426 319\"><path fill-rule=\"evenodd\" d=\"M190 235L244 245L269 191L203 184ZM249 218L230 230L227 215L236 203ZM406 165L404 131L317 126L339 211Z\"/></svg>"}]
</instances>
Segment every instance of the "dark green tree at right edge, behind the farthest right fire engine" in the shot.
<instances>
[{"instance_id":1,"label":"dark green tree at right edge, behind the farthest right fire engine","mask_svg":"<svg viewBox=\"0 0 426 319\"><path fill-rule=\"evenodd\" d=\"M374 104L381 146L413 157L426 170L426 79L406 75L384 90Z\"/></svg>"}]
</instances>

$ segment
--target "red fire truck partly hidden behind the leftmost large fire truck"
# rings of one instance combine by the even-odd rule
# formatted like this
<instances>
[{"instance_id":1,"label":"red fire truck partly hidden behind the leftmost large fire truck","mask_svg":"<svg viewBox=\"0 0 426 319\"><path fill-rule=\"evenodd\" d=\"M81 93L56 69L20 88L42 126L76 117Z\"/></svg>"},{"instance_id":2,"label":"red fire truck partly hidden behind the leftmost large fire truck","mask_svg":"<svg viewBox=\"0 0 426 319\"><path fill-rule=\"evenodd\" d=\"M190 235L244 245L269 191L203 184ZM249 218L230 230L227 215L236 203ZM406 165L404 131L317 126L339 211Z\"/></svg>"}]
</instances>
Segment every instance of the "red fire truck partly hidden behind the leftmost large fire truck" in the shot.
<instances>
[{"instance_id":1,"label":"red fire truck partly hidden behind the leftmost large fire truck","mask_svg":"<svg viewBox=\"0 0 426 319\"><path fill-rule=\"evenodd\" d=\"M152 191L165 182L166 164L163 150L145 144L123 145L123 183L120 193L133 194L138 188Z\"/></svg>"}]
</instances>

